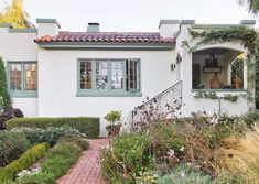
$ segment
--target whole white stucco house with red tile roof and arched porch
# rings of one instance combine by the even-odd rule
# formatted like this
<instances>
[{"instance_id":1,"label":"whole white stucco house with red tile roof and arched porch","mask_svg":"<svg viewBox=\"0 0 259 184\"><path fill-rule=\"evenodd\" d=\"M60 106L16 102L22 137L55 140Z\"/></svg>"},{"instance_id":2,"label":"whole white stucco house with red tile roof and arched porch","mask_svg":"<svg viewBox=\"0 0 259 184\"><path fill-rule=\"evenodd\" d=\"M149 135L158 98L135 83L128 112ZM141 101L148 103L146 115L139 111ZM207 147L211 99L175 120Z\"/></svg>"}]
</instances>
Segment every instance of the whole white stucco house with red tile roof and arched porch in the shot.
<instances>
[{"instance_id":1,"label":"whole white stucco house with red tile roof and arched porch","mask_svg":"<svg viewBox=\"0 0 259 184\"><path fill-rule=\"evenodd\" d=\"M231 25L161 20L158 32L100 32L98 23L89 23L85 32L67 32L55 19L36 22L36 29L0 24L9 90L14 107L26 117L100 117L104 132L107 112L121 110L126 120L147 96L181 99L182 116L219 109L241 115L252 107L241 96L247 89L246 63L241 86L231 85L231 64L248 52L241 43L204 44L191 53L182 42L198 42L188 28L253 28L253 20ZM219 108L218 100L195 98L198 91L238 95L238 99L220 100Z\"/></svg>"}]
</instances>

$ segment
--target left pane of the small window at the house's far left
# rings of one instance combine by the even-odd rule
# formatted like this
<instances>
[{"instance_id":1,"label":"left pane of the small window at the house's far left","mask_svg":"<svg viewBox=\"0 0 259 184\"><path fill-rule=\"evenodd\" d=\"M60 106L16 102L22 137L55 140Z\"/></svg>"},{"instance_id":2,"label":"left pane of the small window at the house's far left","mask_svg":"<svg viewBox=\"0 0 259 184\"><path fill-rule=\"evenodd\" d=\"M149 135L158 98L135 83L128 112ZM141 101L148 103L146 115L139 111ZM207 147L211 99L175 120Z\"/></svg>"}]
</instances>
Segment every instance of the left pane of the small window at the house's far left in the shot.
<instances>
[{"instance_id":1,"label":"left pane of the small window at the house's far left","mask_svg":"<svg viewBox=\"0 0 259 184\"><path fill-rule=\"evenodd\" d=\"M10 64L10 89L11 90L22 90L22 79L21 64Z\"/></svg>"}]
</instances>

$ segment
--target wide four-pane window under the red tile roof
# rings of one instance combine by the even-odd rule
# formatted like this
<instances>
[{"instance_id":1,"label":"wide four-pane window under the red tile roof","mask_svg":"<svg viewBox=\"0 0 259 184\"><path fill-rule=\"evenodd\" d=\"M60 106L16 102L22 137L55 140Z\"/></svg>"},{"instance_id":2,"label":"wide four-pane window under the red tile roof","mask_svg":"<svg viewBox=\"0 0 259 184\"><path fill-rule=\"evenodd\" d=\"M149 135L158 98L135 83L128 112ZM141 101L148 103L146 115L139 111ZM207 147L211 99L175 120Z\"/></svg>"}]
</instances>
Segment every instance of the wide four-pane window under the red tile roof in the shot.
<instances>
[{"instance_id":1,"label":"wide four-pane window under the red tile roof","mask_svg":"<svg viewBox=\"0 0 259 184\"><path fill-rule=\"evenodd\" d=\"M139 59L79 59L78 96L140 94Z\"/></svg>"}]
</instances>

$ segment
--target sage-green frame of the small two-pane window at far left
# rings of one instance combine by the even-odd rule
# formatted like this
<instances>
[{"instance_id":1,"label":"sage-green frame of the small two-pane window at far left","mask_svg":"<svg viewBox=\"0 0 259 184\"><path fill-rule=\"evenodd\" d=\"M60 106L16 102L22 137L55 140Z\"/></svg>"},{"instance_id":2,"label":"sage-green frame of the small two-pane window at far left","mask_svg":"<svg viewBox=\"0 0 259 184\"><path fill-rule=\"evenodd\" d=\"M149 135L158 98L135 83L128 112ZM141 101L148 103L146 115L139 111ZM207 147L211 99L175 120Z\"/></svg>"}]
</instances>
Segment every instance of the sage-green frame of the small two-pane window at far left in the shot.
<instances>
[{"instance_id":1,"label":"sage-green frame of the small two-pane window at far left","mask_svg":"<svg viewBox=\"0 0 259 184\"><path fill-rule=\"evenodd\" d=\"M12 64L21 65L21 90L12 90L11 89L11 82L10 82L10 66ZM25 65L26 64L35 64L35 90L26 90L25 89ZM7 61L7 74L8 74L8 90L13 98L36 98L37 97L37 62L36 61Z\"/></svg>"}]
</instances>

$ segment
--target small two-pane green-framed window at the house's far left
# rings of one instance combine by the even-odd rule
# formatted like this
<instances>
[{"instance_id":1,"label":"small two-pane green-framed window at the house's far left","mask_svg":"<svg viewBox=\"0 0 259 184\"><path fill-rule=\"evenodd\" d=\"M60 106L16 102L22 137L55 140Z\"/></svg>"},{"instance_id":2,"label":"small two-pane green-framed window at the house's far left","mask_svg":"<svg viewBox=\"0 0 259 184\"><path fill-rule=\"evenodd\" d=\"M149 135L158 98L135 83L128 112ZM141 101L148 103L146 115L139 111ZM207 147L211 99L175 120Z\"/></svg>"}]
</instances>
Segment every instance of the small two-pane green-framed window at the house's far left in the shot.
<instances>
[{"instance_id":1,"label":"small two-pane green-framed window at the house's far left","mask_svg":"<svg viewBox=\"0 0 259 184\"><path fill-rule=\"evenodd\" d=\"M9 90L12 96L35 96L36 78L35 62L9 62Z\"/></svg>"}]
</instances>

